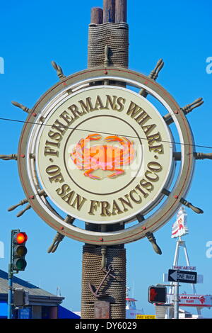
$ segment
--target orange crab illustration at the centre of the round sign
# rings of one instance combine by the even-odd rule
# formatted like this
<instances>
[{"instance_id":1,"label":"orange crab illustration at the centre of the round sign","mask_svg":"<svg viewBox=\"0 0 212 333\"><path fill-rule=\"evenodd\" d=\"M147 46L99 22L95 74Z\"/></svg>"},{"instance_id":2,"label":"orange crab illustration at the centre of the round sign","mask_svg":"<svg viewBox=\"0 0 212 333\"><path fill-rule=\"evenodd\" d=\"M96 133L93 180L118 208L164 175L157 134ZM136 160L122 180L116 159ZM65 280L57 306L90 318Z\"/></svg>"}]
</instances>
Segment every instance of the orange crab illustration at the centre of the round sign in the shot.
<instances>
[{"instance_id":1,"label":"orange crab illustration at the centre of the round sign","mask_svg":"<svg viewBox=\"0 0 212 333\"><path fill-rule=\"evenodd\" d=\"M114 178L124 174L122 167L131 164L135 157L134 142L126 137L118 137L110 135L105 137L106 142L118 142L117 145L93 145L90 146L90 141L100 140L102 135L95 133L90 134L86 139L81 139L73 147L71 158L78 169L86 170L85 176L91 179L101 179L99 176L93 175L93 171L102 169L103 171L114 171L108 175L109 178Z\"/></svg>"}]
</instances>

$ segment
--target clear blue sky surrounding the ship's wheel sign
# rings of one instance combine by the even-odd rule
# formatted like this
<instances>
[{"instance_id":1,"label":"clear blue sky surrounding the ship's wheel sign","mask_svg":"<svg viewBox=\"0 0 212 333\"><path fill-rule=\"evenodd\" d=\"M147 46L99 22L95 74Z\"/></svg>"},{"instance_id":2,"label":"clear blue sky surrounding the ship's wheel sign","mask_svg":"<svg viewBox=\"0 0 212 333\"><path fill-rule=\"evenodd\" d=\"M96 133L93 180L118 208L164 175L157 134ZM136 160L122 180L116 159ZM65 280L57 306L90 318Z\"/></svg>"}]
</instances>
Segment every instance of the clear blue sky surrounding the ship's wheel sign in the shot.
<instances>
[{"instance_id":1,"label":"clear blue sky surrounding the ship's wheel sign","mask_svg":"<svg viewBox=\"0 0 212 333\"><path fill-rule=\"evenodd\" d=\"M85 1L4 1L0 13L0 57L4 58L4 74L0 74L0 118L25 120L26 114L12 106L18 101L31 108L50 86L57 82L52 68L54 60L69 75L87 67L88 24L90 8L102 6L102 0ZM179 0L150 2L129 0L129 68L149 74L155 63L163 58L165 67L158 83L174 96L180 106L203 97L204 105L188 115L196 145L212 147L211 87L212 74L206 72L206 59L212 57L210 0ZM212 67L211 67L212 68ZM0 154L15 154L21 123L0 120ZM197 152L211 153L211 148L196 147ZM204 274L204 284L196 286L200 294L212 294L212 257L206 256L206 243L212 241L211 225L211 164L197 161L194 180L187 200L204 210L197 215L187 209L189 235L185 237L192 266ZM8 268L11 229L28 233L28 267L18 277L49 292L57 286L66 297L64 306L72 310L81 307L81 257L83 243L65 238L55 254L47 248L55 235L45 222L28 210L21 218L7 208L25 198L18 179L16 161L1 161L1 227L5 258L0 269ZM21 208L20 208L21 210ZM172 266L175 240L170 238L170 220L155 233L163 250L158 256L146 240L126 245L127 286L134 285L137 307L153 314L147 301L148 286L163 282L163 273ZM212 251L211 251L212 254ZM182 264L185 262L182 260ZM181 291L192 292L184 284ZM212 310L204 315L212 317Z\"/></svg>"}]
</instances>

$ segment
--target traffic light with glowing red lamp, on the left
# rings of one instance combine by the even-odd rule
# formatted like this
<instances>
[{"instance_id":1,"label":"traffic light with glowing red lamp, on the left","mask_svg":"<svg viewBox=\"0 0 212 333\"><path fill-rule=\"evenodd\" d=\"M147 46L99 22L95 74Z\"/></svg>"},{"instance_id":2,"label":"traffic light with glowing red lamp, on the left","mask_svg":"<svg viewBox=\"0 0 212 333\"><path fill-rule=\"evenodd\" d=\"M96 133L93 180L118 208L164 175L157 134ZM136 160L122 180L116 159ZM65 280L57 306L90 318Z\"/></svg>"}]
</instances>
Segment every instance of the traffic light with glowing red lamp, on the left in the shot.
<instances>
[{"instance_id":1,"label":"traffic light with glowing red lamp, on the left","mask_svg":"<svg viewBox=\"0 0 212 333\"><path fill-rule=\"evenodd\" d=\"M28 249L25 247L25 242L28 240L25 232L14 232L13 233L13 271L24 271L27 262L25 261L25 255Z\"/></svg>"}]
</instances>

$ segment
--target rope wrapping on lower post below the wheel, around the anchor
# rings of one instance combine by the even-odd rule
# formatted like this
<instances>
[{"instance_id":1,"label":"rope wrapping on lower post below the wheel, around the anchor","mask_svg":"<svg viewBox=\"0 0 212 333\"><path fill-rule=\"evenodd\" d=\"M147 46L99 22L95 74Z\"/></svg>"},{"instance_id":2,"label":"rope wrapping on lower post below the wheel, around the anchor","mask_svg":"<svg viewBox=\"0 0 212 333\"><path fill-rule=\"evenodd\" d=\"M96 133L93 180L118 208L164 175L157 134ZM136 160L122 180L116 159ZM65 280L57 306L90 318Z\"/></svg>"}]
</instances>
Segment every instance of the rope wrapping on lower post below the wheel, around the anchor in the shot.
<instances>
[{"instance_id":1,"label":"rope wrapping on lower post below the wheel, around the anchor","mask_svg":"<svg viewBox=\"0 0 212 333\"><path fill-rule=\"evenodd\" d=\"M101 269L101 248L83 247L83 271L82 271L82 308L83 319L94 318L95 296L90 292L88 283L95 288L100 286L105 277ZM100 300L110 302L111 319L125 318L125 293L126 293L126 249L107 248L106 267L112 265L115 278L108 277L100 289ZM98 269L99 268L99 269ZM107 294L107 295L105 295ZM104 296L105 295L105 296Z\"/></svg>"}]
</instances>

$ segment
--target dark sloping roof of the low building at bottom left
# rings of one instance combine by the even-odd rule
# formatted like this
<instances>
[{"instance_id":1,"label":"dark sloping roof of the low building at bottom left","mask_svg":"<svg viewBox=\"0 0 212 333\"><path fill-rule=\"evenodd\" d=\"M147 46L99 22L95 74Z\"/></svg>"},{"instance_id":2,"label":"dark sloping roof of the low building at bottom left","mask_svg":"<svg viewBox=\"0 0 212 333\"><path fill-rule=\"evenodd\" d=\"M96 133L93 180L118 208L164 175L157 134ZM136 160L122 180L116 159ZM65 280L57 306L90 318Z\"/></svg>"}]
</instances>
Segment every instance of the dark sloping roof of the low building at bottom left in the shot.
<instances>
[{"instance_id":1,"label":"dark sloping roof of the low building at bottom left","mask_svg":"<svg viewBox=\"0 0 212 333\"><path fill-rule=\"evenodd\" d=\"M24 290L29 292L30 300L35 303L35 299L38 301L42 300L54 303L61 303L64 300L64 297L54 295L49 293L46 290L43 290L32 283L22 280L21 278L17 278L13 276L13 288L24 288ZM0 269L0 295L6 295L8 293L8 273L5 271L1 271Z\"/></svg>"}]
</instances>

